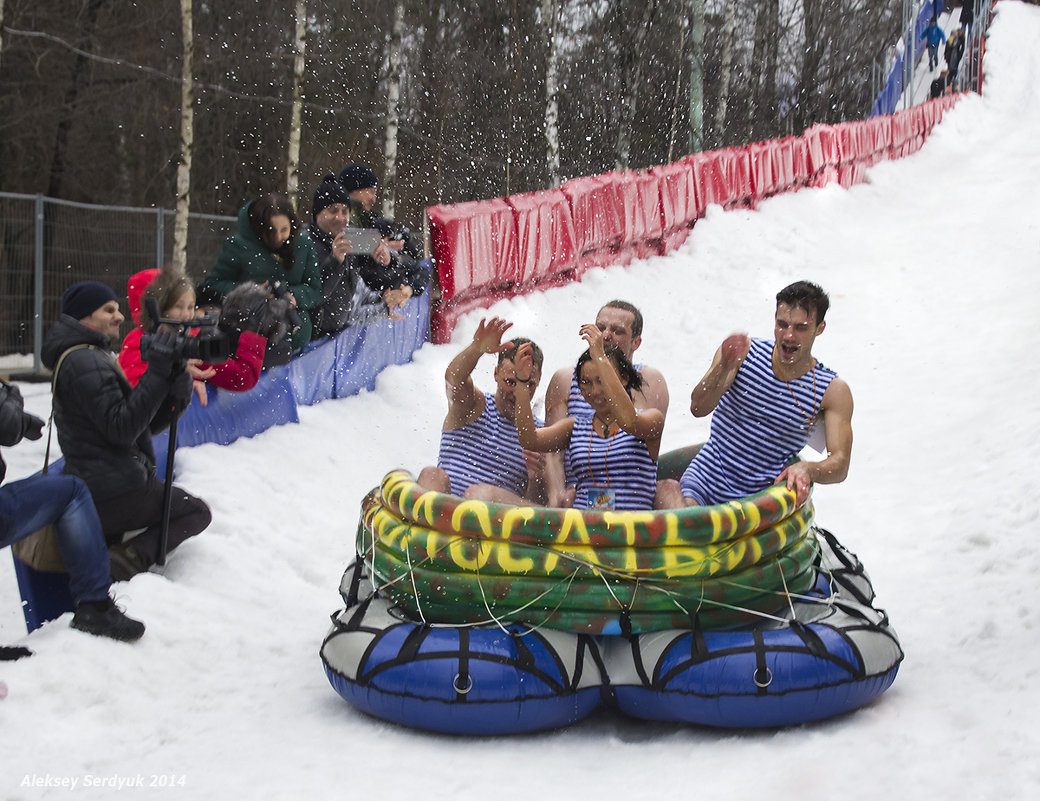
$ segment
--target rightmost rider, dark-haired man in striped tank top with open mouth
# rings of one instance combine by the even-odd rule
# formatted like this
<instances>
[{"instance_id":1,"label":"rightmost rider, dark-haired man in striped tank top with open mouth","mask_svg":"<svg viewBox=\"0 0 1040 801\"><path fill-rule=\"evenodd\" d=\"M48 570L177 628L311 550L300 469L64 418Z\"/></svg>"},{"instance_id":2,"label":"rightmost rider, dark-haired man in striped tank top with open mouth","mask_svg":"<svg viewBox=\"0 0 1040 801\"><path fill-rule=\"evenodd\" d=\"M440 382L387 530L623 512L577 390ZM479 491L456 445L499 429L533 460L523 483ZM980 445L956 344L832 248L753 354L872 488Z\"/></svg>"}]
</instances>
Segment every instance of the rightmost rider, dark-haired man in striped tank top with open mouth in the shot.
<instances>
[{"instance_id":1,"label":"rightmost rider, dark-haired man in striped tank top with open mouth","mask_svg":"<svg viewBox=\"0 0 1040 801\"><path fill-rule=\"evenodd\" d=\"M802 502L811 484L844 481L852 456L852 392L812 356L829 305L817 285L798 281L777 293L775 340L726 338L691 394L695 417L714 412L708 441L681 482L662 483L659 509L722 503L778 483ZM826 458L788 466L820 421Z\"/></svg>"}]
</instances>

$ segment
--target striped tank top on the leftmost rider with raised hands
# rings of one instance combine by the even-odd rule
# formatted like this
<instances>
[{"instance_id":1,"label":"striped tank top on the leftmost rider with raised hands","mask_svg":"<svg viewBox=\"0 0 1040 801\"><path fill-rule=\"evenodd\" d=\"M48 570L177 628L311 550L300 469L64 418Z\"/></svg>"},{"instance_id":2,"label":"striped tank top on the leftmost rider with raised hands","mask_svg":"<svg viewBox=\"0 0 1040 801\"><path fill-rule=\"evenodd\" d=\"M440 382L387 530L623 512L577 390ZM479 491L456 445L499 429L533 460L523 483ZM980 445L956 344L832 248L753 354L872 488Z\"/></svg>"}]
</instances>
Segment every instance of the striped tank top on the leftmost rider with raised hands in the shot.
<instances>
[{"instance_id":1,"label":"striped tank top on the leftmost rider with raised hands","mask_svg":"<svg viewBox=\"0 0 1040 801\"><path fill-rule=\"evenodd\" d=\"M535 424L542 422L536 419ZM448 474L452 495L462 495L474 484L493 484L517 495L527 489L517 427L499 413L490 392L484 393L484 414L461 429L441 432L437 466Z\"/></svg>"}]
</instances>

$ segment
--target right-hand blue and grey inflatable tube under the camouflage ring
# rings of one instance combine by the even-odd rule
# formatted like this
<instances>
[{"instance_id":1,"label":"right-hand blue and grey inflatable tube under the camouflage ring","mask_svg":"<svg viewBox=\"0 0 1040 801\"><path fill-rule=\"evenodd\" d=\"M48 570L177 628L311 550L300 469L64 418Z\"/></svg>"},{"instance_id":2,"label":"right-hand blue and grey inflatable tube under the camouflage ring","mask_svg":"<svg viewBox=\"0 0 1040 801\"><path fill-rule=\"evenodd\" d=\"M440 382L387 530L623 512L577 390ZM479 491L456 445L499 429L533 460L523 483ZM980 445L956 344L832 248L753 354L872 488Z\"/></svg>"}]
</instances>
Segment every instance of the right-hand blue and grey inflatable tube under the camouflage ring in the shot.
<instances>
[{"instance_id":1,"label":"right-hand blue and grey inflatable tube under the camouflage ring","mask_svg":"<svg viewBox=\"0 0 1040 801\"><path fill-rule=\"evenodd\" d=\"M856 557L828 532L813 593L781 618L727 631L655 631L603 645L618 707L708 726L786 726L858 708L895 680L903 651Z\"/></svg>"}]
</instances>

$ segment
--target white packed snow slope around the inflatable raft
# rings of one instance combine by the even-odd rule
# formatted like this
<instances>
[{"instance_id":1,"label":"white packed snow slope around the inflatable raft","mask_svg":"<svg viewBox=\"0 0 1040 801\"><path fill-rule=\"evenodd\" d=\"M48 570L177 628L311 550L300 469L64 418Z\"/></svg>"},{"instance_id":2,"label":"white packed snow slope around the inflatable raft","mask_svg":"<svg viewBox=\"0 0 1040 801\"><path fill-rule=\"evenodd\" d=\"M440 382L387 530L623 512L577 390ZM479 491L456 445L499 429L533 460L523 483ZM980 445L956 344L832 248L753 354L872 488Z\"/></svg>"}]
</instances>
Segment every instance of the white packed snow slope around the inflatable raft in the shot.
<instances>
[{"instance_id":1,"label":"white packed snow slope around the inflatable raft","mask_svg":"<svg viewBox=\"0 0 1040 801\"><path fill-rule=\"evenodd\" d=\"M866 564L907 653L877 702L779 731L604 712L556 732L471 740L342 701L317 650L358 503L388 469L436 458L443 370L470 317L454 343L423 347L373 392L230 447L181 450L179 483L209 501L213 524L163 574L115 586L148 624L139 643L85 636L68 617L25 637L4 567L0 641L35 655L0 663L0 797L1036 798L1037 42L1040 7L1003 0L984 97L965 97L919 153L848 191L712 209L668 258L492 310L536 338L551 369L577 356L578 326L603 302L642 307L639 357L672 393L667 449L704 438L686 398L725 335L769 336L789 281L830 291L815 353L852 387L856 440L848 481L816 488L816 513ZM477 383L491 386L489 365ZM23 390L45 415L47 387ZM9 479L29 474L43 443L4 457Z\"/></svg>"}]
</instances>

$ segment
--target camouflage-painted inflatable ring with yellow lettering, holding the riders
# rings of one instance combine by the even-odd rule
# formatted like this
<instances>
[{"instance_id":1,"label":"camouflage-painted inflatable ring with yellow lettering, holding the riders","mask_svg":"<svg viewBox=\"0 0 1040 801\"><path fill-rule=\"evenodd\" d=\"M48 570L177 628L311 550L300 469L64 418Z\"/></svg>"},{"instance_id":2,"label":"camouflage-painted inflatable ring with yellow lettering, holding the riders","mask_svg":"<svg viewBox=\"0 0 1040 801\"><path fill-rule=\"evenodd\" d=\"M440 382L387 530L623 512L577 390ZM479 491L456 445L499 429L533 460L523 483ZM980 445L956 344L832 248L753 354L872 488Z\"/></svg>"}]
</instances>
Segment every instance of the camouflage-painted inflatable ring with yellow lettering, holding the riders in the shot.
<instances>
[{"instance_id":1,"label":"camouflage-painted inflatable ring with yellow lettering, holding the riders","mask_svg":"<svg viewBox=\"0 0 1040 801\"><path fill-rule=\"evenodd\" d=\"M743 625L809 590L812 507L739 501L593 512L466 500L394 471L362 501L358 551L417 620L590 634Z\"/></svg>"}]
</instances>

